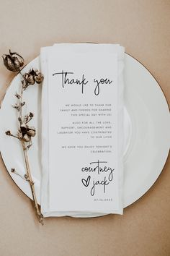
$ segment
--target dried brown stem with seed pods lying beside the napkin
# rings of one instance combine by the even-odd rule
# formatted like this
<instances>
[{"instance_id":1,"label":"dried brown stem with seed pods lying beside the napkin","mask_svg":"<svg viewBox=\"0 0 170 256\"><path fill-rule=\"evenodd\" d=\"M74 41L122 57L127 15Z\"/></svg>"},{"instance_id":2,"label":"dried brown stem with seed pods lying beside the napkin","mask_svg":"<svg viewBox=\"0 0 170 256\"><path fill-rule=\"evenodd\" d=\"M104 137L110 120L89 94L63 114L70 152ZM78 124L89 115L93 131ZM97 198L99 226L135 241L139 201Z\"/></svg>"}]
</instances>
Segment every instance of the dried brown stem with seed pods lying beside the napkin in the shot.
<instances>
[{"instance_id":1,"label":"dried brown stem with seed pods lying beside the napkin","mask_svg":"<svg viewBox=\"0 0 170 256\"><path fill-rule=\"evenodd\" d=\"M24 59L22 56L20 56L17 53L12 53L12 51L9 50L9 54L4 54L2 56L4 60L4 66L9 69L12 72L19 72L19 74L22 76L22 88L20 94L16 92L15 96L18 99L18 103L15 104L13 107L17 109L18 112L18 121L19 121L19 129L18 129L18 134L17 135L12 135L10 130L6 131L6 135L15 137L20 140L22 144L22 150L24 153L24 162L25 162L25 167L26 167L26 174L24 177L21 174L18 174L17 171L12 168L12 172L15 174L19 175L22 177L22 179L26 180L27 182L30 183L30 188L32 191L32 198L33 202L35 205L35 210L37 213L37 218L39 222L43 225L43 216L42 213L40 212L40 206L37 204L37 197L35 195L35 186L34 182L32 180L31 176L31 171L30 171L30 166L29 166L29 161L28 161L28 156L27 156L27 150L31 147L32 141L31 137L35 136L35 129L29 129L26 121L30 121L33 117L33 114L30 112L29 115L27 116L22 116L22 107L25 105L25 102L22 101L23 97L23 92L24 90L29 86L33 85L35 82L39 84L43 80L43 75L40 72L35 72L33 69L30 71L30 74L25 73L24 75L21 72L20 67L24 65ZM25 76L26 75L26 76ZM29 134L27 134L29 132ZM28 144L27 144L28 143Z\"/></svg>"}]
</instances>

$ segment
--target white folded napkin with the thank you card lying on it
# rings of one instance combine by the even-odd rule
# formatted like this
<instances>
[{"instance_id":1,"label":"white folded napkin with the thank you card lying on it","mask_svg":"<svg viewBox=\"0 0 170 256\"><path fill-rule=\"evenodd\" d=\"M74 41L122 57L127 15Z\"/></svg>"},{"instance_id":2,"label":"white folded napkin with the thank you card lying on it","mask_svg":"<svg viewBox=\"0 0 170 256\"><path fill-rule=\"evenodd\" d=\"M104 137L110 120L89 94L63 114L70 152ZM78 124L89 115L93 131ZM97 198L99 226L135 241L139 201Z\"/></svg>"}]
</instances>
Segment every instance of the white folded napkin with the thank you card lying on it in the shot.
<instances>
[{"instance_id":1,"label":"white folded napkin with the thank you card lying on it","mask_svg":"<svg viewBox=\"0 0 170 256\"><path fill-rule=\"evenodd\" d=\"M124 48L41 48L41 210L48 216L122 214Z\"/></svg>"}]
</instances>

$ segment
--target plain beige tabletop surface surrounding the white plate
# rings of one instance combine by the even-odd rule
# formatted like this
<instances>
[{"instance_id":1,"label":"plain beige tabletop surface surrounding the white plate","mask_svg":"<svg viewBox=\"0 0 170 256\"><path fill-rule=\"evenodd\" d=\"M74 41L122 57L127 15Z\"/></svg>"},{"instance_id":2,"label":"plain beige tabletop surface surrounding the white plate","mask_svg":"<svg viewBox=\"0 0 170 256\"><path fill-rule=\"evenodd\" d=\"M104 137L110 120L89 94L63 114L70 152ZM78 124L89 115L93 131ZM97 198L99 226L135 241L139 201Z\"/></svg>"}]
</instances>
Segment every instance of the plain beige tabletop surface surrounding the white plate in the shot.
<instances>
[{"instance_id":1,"label":"plain beige tabletop surface surrounding the white plate","mask_svg":"<svg viewBox=\"0 0 170 256\"><path fill-rule=\"evenodd\" d=\"M169 0L0 0L0 56L26 62L55 42L121 43L156 77L170 103ZM0 99L12 79L0 64ZM169 256L170 161L156 184L123 216L45 219L0 161L1 256Z\"/></svg>"}]
</instances>

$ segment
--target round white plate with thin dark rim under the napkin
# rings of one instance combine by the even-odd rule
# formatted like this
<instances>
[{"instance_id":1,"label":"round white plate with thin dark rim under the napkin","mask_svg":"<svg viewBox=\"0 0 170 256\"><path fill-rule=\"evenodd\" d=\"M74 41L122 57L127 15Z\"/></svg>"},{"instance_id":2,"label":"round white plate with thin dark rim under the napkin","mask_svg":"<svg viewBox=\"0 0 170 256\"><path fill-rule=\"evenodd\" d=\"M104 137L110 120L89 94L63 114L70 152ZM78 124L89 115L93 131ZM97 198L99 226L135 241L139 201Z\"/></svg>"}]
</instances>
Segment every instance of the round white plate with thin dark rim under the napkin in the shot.
<instances>
[{"instance_id":1,"label":"round white plate with thin dark rim under the napkin","mask_svg":"<svg viewBox=\"0 0 170 256\"><path fill-rule=\"evenodd\" d=\"M39 58L30 62L22 72L30 68L40 69ZM6 130L17 132L17 111L12 108L16 102L14 94L19 92L19 74L12 80L1 104L0 111L0 149L6 169L14 182L30 198L30 185L20 176L13 174L15 168L24 175L24 159L19 141L5 135ZM32 148L28 151L30 168L37 201L40 203L40 97L41 85L30 85L24 92L27 111L35 114L32 126L37 128L37 136L33 138ZM161 174L166 162L170 145L169 107L164 94L150 72L136 59L125 54L125 182L124 208L138 200Z\"/></svg>"}]
</instances>

